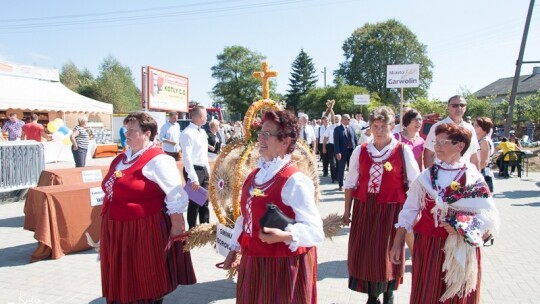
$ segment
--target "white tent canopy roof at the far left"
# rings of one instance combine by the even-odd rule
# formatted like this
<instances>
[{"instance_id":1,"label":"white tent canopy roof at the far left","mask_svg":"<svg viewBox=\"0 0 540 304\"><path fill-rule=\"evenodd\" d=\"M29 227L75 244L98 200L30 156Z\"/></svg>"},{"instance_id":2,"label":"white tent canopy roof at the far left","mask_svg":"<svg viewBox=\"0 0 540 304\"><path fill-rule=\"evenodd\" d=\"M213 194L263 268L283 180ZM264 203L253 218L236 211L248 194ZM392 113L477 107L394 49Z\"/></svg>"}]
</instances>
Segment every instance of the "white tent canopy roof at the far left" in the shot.
<instances>
[{"instance_id":1,"label":"white tent canopy roof at the far left","mask_svg":"<svg viewBox=\"0 0 540 304\"><path fill-rule=\"evenodd\" d=\"M60 81L0 74L0 108L113 113L113 105L77 94Z\"/></svg>"}]
</instances>

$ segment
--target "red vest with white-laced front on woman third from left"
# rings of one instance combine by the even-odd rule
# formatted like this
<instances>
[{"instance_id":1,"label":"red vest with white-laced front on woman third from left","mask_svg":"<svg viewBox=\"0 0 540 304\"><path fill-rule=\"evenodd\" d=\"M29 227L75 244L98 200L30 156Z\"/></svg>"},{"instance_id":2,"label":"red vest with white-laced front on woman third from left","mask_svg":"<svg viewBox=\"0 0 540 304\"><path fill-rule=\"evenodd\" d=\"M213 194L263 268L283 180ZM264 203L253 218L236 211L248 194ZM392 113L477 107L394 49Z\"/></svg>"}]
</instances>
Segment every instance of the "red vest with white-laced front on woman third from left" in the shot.
<instances>
[{"instance_id":1,"label":"red vest with white-laced front on woman third from left","mask_svg":"<svg viewBox=\"0 0 540 304\"><path fill-rule=\"evenodd\" d=\"M382 168L381 187L377 194L377 203L405 203L407 198L405 194L405 187L403 185L403 170L406 170L401 160L401 143L398 143L394 150L390 152L390 157L384 161L392 164L392 170L387 171L384 166ZM402 149L402 148L401 148ZM383 163L383 165L384 165ZM353 192L353 197L361 202L367 202L368 195L368 183L369 183L369 170L373 160L369 157L367 151L367 143L362 144L360 157L358 160L358 182L356 189Z\"/></svg>"}]
</instances>

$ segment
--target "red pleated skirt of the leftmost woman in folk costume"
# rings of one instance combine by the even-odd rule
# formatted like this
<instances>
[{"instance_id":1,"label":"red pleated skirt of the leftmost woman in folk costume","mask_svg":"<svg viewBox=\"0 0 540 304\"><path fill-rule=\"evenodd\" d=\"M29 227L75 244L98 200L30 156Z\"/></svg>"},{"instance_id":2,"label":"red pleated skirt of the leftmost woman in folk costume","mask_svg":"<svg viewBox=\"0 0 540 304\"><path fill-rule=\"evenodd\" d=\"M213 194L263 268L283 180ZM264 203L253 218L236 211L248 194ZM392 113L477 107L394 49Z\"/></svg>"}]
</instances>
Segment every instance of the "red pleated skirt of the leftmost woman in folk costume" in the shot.
<instances>
[{"instance_id":1,"label":"red pleated skirt of the leftmost woman in folk costume","mask_svg":"<svg viewBox=\"0 0 540 304\"><path fill-rule=\"evenodd\" d=\"M171 220L162 210L131 221L103 216L101 286L108 303L146 303L162 298L178 285L197 282L191 255L182 242L167 251Z\"/></svg>"}]
</instances>

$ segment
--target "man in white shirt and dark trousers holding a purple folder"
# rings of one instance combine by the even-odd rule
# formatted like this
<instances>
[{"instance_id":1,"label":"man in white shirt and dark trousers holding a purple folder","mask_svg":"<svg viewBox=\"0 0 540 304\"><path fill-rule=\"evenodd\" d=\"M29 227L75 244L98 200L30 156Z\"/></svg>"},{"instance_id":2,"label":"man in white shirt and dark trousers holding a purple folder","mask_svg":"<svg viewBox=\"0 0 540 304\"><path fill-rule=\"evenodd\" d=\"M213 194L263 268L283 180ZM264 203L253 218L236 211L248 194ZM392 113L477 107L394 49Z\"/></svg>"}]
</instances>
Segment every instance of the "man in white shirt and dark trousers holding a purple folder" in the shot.
<instances>
[{"instance_id":1,"label":"man in white shirt and dark trousers holding a purple folder","mask_svg":"<svg viewBox=\"0 0 540 304\"><path fill-rule=\"evenodd\" d=\"M191 110L191 123L180 135L184 179L191 181L191 189L194 191L198 191L200 187L208 189L210 181L208 138L206 131L202 128L205 124L206 109L202 106L195 106ZM210 222L208 200L202 206L189 200L187 220L190 229L197 226L197 215L200 224Z\"/></svg>"}]
</instances>

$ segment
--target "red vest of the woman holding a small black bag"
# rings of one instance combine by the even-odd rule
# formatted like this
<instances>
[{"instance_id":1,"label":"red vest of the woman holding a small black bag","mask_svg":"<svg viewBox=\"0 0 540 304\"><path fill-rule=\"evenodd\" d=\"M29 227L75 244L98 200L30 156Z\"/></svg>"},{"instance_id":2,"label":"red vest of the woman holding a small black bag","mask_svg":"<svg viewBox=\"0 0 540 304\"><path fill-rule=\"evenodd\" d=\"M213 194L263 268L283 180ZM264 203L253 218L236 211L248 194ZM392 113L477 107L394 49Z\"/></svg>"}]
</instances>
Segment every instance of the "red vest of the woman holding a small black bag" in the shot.
<instances>
[{"instance_id":1,"label":"red vest of the woman holding a small black bag","mask_svg":"<svg viewBox=\"0 0 540 304\"><path fill-rule=\"evenodd\" d=\"M259 169L251 172L244 182L244 186L242 187L242 199L240 203L242 206L242 214L244 215L244 225L248 220L246 202L247 198L250 196L249 189L258 171ZM263 243L259 238L259 231L261 230L259 219L266 212L267 203L274 203L286 216L292 219L295 218L293 209L285 205L281 200L281 191L283 190L283 186L287 182L287 179L298 171L299 170L296 166L289 166L277 174L276 181L267 190L265 190L264 196L254 196L251 199L252 234L250 236L249 234L242 232L240 237L242 254L259 257L287 257L304 254L307 251L305 247L298 247L295 252L291 252L287 244L284 242L267 244Z\"/></svg>"}]
</instances>

